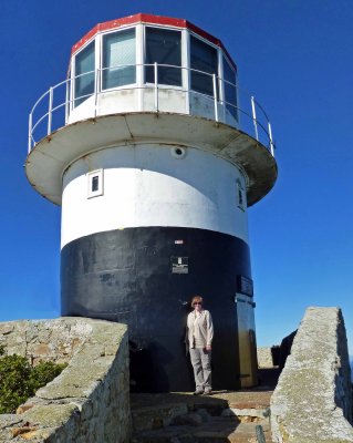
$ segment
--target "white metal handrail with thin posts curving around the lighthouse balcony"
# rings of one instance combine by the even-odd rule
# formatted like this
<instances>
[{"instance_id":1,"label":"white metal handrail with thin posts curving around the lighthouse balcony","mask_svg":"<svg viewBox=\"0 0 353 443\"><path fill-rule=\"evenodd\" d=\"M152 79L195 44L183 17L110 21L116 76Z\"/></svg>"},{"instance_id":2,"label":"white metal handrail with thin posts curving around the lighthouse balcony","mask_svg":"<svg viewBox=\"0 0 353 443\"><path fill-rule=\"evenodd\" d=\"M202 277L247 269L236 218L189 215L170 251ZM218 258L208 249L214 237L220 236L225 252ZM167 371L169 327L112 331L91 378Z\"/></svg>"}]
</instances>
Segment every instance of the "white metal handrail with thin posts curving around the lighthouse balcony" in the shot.
<instances>
[{"instance_id":1,"label":"white metal handrail with thin posts curving around the lighthouse balcony","mask_svg":"<svg viewBox=\"0 0 353 443\"><path fill-rule=\"evenodd\" d=\"M154 82L153 84L150 83L143 83L143 84L137 84L134 83L132 85L124 85L124 86L116 86L116 87L112 87L112 89L103 89L103 84L101 83L102 81L102 71L107 70L107 69L122 69L122 68L128 68L128 66L150 66L154 70ZM174 68L174 69L178 69L178 70L186 70L187 71L187 76L189 79L189 81L187 82L188 84L190 84L190 79L193 74L203 74L206 78L209 78L212 84L212 95L210 95L208 92L199 92L199 91L195 91L191 87L186 89L183 87L183 80L180 80L180 85L167 85L167 84L162 84L159 83L159 79L158 79L158 68ZM94 75L94 87L93 87L93 93L89 93L89 94L84 94L81 96L74 96L74 90L75 90L75 81L76 79L83 78L84 75ZM184 76L181 75L180 79L183 79ZM93 79L93 76L92 76ZM220 86L220 92L218 93L218 85ZM227 101L227 92L225 90L225 86L227 85L229 87L233 87L235 89L235 103ZM64 91L64 99L63 101L56 105L55 107L53 107L53 103L54 103L54 92L58 91L61 86L65 87ZM101 94L107 94L114 91L123 91L123 90L146 90L146 89L154 89L154 109L155 112L159 112L159 91L165 91L165 90L173 90L173 91L179 91L181 93L186 93L188 96L190 95L198 95L198 96L204 96L207 99L211 99L214 101L214 109L215 109L215 121L218 122L224 122L224 123L228 123L230 125L233 125L236 127L241 128L243 132L249 133L249 135L251 135L251 131L248 131L247 128L247 123L246 122L252 122L252 126L253 126L253 131L255 131L255 138L257 141L259 141L260 138L260 134L259 134L259 130L261 130L261 137L263 140L263 137L266 138L266 141L262 143L266 146L268 146L269 152L271 153L271 155L274 155L274 142L273 142L273 137L272 137L272 128L271 128L271 124L270 121L267 116L267 113L264 112L263 107L255 100L253 96L249 96L248 93L245 93L245 90L239 89L237 86L237 84L233 84L222 78L217 76L215 73L209 73L209 72L204 72L200 70L194 70L190 68L185 68L185 66L176 66L176 65L170 65L170 64L158 64L158 63L149 63L149 64L126 64L126 65L118 65L118 66L108 66L108 68L104 68L104 69L97 69L95 71L90 71L90 72L85 72L83 74L76 75L76 76L72 76L68 80L64 80L60 83L58 83L56 85L52 86L49 89L49 91L46 91L44 94L42 94L39 100L34 103L30 115L29 115L29 136L28 136L28 143L29 143L29 152L32 150L32 147L35 145L37 141L34 138L34 132L38 133L41 131L40 137L43 137L45 135L49 135L52 131L58 130L60 126L58 125L56 127L53 127L53 113L60 109L63 109L63 124L66 125L70 121L70 113L77 107L77 105L75 105L76 101L80 100L80 103L84 102L86 99L89 99L90 96L94 95L94 115L97 115L97 106L98 106L98 96ZM207 91L207 89L206 89ZM240 107L238 105L239 103L239 95L247 95L248 96L248 103L249 106L245 106L245 107ZM44 101L46 101L46 96L48 96L48 105L46 105L46 111L42 112L42 114L39 117L34 117L34 114L41 112L40 110L43 107ZM55 97L56 97L56 102L58 102L58 96L56 96L56 92L55 92ZM250 100L249 100L250 99ZM242 104L247 104L247 102L242 101ZM220 107L219 107L220 106ZM222 110L221 114L219 113L219 109ZM247 111L247 109L249 109L249 111ZM44 106L45 110L45 106ZM226 121L226 115L227 112L229 111L232 114L232 119L235 121L235 123L229 123L229 121ZM232 110L232 111L231 111ZM190 105L188 106L188 113L193 114L193 110L190 107ZM261 119L259 119L259 114L257 113L257 111L260 112L260 116ZM177 111L176 111L177 112ZM245 117L245 124L239 123L239 114L242 115ZM221 115L221 117L220 117ZM229 114L230 115L230 114ZM207 115L205 115L207 116ZM208 116L209 117L209 116ZM43 122L43 120L48 119L46 121L46 134L44 133L43 130L39 130L40 123ZM243 121L243 119L242 119ZM245 127L243 127L245 126ZM42 127L42 126L41 126Z\"/></svg>"}]
</instances>

